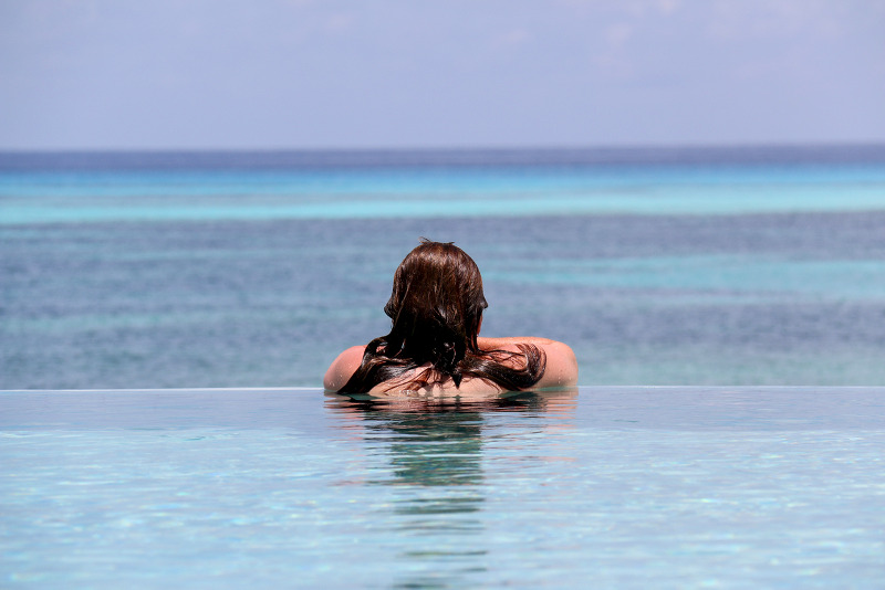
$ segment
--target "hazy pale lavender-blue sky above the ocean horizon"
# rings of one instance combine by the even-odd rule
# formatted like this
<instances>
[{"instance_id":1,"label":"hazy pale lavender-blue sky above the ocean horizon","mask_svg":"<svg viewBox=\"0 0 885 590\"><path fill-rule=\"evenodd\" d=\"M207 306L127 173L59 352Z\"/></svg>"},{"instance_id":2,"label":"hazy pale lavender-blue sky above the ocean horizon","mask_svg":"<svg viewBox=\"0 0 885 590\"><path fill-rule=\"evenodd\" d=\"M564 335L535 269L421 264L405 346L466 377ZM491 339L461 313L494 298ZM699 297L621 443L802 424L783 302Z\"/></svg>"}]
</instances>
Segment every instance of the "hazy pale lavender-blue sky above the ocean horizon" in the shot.
<instances>
[{"instance_id":1,"label":"hazy pale lavender-blue sky above the ocean horizon","mask_svg":"<svg viewBox=\"0 0 885 590\"><path fill-rule=\"evenodd\" d=\"M885 143L881 0L0 0L0 149Z\"/></svg>"}]
</instances>

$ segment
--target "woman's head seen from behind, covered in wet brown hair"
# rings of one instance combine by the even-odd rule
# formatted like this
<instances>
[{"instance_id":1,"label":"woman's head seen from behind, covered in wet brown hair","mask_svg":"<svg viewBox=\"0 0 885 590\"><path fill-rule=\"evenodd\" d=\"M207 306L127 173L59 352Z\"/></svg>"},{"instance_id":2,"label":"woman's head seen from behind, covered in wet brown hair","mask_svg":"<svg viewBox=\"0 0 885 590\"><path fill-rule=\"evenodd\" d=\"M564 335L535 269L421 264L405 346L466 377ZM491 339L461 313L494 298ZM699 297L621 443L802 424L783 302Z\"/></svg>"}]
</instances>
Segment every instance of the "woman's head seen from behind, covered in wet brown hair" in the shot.
<instances>
[{"instance_id":1,"label":"woman's head seen from behind, covered in wet brown hair","mask_svg":"<svg viewBox=\"0 0 885 590\"><path fill-rule=\"evenodd\" d=\"M482 276L473 260L451 243L421 240L399 264L384 312L393 320L389 356L431 362L449 372L467 350L477 352Z\"/></svg>"}]
</instances>

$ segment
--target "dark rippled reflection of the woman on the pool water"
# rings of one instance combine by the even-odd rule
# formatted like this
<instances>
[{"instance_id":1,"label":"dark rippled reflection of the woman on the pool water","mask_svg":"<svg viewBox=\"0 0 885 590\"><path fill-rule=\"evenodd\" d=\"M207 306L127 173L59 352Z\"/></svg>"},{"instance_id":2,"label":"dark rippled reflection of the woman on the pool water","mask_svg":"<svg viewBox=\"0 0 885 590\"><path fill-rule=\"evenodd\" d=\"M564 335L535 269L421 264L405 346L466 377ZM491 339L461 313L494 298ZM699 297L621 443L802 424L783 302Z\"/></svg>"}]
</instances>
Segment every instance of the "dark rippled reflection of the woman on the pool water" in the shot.
<instances>
[{"instance_id":1,"label":"dark rippled reflection of the woman on the pool water","mask_svg":"<svg viewBox=\"0 0 885 590\"><path fill-rule=\"evenodd\" d=\"M466 402L440 398L331 396L330 405L358 417L369 449L389 455L389 470L369 484L394 486L392 505L400 578L395 588L475 586L470 577L487 570L488 544L482 519L487 492L483 431L493 412L542 414L561 392L521 392ZM407 537L407 544L402 537ZM406 547L403 550L403 547Z\"/></svg>"}]
</instances>

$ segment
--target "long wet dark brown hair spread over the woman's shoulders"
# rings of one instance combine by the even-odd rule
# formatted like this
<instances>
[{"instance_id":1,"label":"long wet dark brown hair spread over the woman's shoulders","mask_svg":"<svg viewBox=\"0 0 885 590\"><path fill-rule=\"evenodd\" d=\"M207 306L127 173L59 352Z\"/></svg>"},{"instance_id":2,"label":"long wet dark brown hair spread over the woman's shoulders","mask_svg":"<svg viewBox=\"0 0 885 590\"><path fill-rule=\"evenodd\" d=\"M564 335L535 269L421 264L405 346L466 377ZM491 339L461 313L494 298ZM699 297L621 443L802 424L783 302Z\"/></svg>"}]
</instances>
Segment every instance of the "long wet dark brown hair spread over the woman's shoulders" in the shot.
<instances>
[{"instance_id":1,"label":"long wet dark brown hair spread over the woman's shoulders","mask_svg":"<svg viewBox=\"0 0 885 590\"><path fill-rule=\"evenodd\" d=\"M480 350L477 336L486 307L473 260L450 242L421 239L394 274L384 306L391 333L368 343L360 368L341 391L365 393L384 382L391 382L391 390L414 390L448 379L457 388L465 377L506 391L532 387L544 373L543 351L533 345L517 345L520 352ZM413 379L405 378L420 367L425 369Z\"/></svg>"}]
</instances>

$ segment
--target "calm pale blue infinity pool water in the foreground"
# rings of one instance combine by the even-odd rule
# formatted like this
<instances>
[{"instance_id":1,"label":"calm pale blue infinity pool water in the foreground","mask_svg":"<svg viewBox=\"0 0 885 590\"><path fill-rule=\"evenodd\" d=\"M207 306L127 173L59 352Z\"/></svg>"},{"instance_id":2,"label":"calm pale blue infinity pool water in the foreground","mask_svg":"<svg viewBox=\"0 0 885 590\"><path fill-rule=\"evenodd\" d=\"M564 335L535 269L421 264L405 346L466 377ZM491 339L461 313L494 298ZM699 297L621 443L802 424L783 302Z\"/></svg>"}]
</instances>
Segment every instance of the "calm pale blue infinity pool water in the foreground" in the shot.
<instances>
[{"instance_id":1,"label":"calm pale blue infinity pool water in the foreground","mask_svg":"<svg viewBox=\"0 0 885 590\"><path fill-rule=\"evenodd\" d=\"M0 393L9 588L883 588L885 388Z\"/></svg>"}]
</instances>

